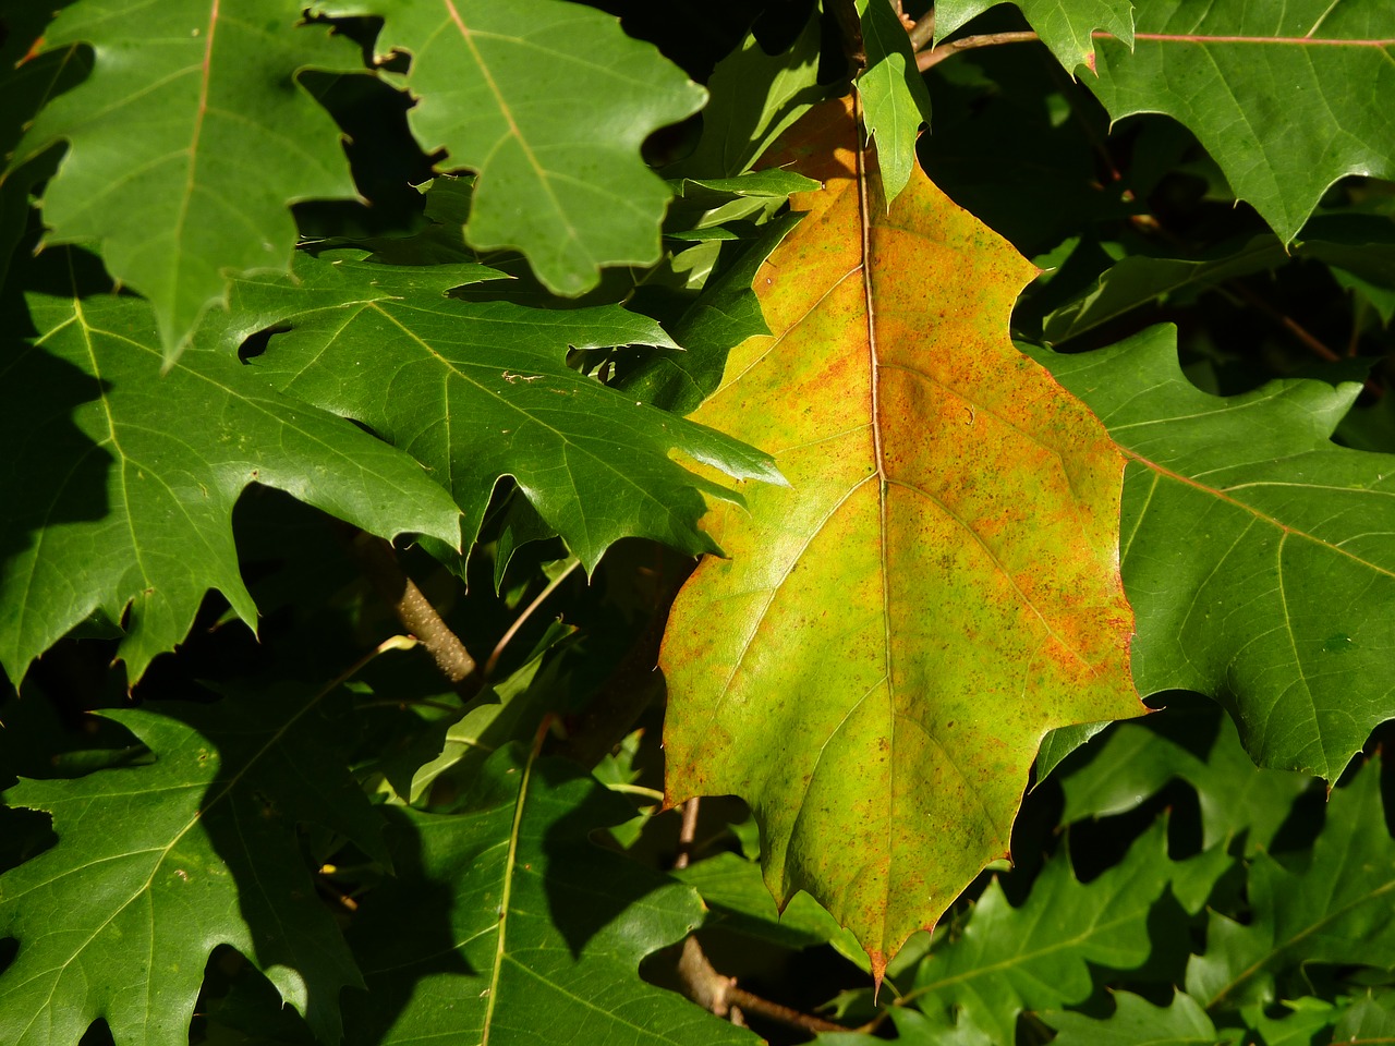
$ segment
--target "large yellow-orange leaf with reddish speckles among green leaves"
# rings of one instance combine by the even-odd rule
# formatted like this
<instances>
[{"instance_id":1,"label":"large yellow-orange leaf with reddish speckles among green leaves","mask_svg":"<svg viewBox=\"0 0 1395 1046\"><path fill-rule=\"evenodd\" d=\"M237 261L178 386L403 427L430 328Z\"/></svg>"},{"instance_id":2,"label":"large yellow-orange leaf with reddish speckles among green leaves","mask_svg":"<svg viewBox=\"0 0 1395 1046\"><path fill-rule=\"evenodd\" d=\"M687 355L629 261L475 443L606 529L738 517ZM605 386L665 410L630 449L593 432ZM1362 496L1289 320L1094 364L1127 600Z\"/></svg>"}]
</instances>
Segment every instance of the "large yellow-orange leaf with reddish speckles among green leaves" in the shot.
<instances>
[{"instance_id":1,"label":"large yellow-orange leaf with reddish speckles among green leaves","mask_svg":"<svg viewBox=\"0 0 1395 1046\"><path fill-rule=\"evenodd\" d=\"M826 188L756 276L773 333L693 414L791 488L707 517L731 559L670 618L667 798L744 796L776 898L880 973L1004 855L1045 734L1143 711L1123 459L1007 340L1032 266L919 172L887 212L844 103L794 130Z\"/></svg>"}]
</instances>

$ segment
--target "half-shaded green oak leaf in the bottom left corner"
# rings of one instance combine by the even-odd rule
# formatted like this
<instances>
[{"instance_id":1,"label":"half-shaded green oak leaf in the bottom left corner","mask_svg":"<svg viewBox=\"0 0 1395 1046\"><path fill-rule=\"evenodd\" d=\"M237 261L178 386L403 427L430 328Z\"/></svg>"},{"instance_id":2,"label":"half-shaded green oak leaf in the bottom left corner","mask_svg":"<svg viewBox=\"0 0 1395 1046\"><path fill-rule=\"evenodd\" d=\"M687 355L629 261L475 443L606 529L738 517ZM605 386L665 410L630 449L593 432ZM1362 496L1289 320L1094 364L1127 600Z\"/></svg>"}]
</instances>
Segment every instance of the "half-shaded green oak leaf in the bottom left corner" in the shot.
<instances>
[{"instance_id":1,"label":"half-shaded green oak leaf in the bottom left corner","mask_svg":"<svg viewBox=\"0 0 1395 1046\"><path fill-rule=\"evenodd\" d=\"M4 794L50 812L59 844L0 876L0 936L20 941L0 973L0 1042L71 1046L105 1018L123 1046L184 1046L218 944L255 962L322 1042L339 1040L339 992L361 980L297 824L386 852L378 814L324 742L321 697L106 711L153 764Z\"/></svg>"}]
</instances>

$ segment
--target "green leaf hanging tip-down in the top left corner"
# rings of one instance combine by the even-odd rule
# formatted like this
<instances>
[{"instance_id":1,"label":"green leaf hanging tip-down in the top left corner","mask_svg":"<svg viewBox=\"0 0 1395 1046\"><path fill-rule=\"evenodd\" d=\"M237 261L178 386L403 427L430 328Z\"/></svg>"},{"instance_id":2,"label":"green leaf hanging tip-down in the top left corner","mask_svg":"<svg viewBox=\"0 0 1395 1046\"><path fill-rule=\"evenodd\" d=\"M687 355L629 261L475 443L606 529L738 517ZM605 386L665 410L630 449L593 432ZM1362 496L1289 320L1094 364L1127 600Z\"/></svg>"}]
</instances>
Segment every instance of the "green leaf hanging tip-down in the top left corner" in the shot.
<instances>
[{"instance_id":1,"label":"green leaf hanging tip-down in the top left corner","mask_svg":"<svg viewBox=\"0 0 1395 1046\"><path fill-rule=\"evenodd\" d=\"M339 130L296 84L357 54L301 4L119 0L64 7L50 49L85 42L92 75L52 100L17 152L70 142L43 195L52 240L98 240L112 276L155 310L173 361L232 272L290 264L290 204L354 197Z\"/></svg>"}]
</instances>

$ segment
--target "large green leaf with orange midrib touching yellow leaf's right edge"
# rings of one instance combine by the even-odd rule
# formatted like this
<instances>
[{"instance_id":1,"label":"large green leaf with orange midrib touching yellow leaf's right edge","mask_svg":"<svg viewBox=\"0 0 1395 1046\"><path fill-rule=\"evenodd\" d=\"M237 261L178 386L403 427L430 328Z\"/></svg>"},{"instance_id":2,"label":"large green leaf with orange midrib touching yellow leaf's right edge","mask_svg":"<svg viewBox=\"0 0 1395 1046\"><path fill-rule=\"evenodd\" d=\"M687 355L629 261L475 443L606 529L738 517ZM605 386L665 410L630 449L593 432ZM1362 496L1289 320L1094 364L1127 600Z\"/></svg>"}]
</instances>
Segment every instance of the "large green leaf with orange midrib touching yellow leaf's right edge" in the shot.
<instances>
[{"instance_id":1,"label":"large green leaf with orange midrib touching yellow leaf's right edge","mask_svg":"<svg viewBox=\"0 0 1395 1046\"><path fill-rule=\"evenodd\" d=\"M1260 766L1334 780L1395 717L1395 457L1328 439L1360 386L1211 396L1168 326L1036 358L1133 459L1120 552L1138 689L1208 693Z\"/></svg>"}]
</instances>

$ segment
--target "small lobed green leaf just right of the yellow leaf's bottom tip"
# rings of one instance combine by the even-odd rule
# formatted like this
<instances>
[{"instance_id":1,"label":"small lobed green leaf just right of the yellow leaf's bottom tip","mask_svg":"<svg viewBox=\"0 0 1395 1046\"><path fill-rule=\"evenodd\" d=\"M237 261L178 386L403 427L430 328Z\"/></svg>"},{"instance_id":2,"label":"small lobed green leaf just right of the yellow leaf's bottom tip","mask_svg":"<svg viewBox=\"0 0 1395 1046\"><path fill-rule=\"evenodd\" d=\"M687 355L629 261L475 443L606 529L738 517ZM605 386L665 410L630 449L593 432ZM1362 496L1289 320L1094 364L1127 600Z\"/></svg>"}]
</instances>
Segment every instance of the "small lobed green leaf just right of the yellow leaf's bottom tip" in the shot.
<instances>
[{"instance_id":1,"label":"small lobed green leaf just right of the yellow leaf's bottom tip","mask_svg":"<svg viewBox=\"0 0 1395 1046\"><path fill-rule=\"evenodd\" d=\"M932 1017L970 1021L996 1043L1014 1038L1017 1014L1074 1006L1094 989L1087 964L1141 967L1152 950L1148 912L1176 869L1159 820L1122 863L1081 883L1069 856L1046 862L1021 908L999 880L957 937L935 948L907 993Z\"/></svg>"}]
</instances>

